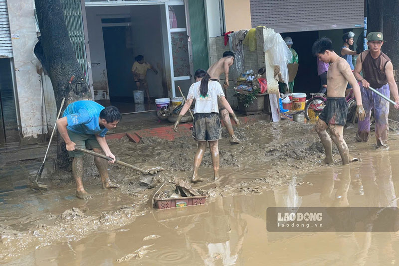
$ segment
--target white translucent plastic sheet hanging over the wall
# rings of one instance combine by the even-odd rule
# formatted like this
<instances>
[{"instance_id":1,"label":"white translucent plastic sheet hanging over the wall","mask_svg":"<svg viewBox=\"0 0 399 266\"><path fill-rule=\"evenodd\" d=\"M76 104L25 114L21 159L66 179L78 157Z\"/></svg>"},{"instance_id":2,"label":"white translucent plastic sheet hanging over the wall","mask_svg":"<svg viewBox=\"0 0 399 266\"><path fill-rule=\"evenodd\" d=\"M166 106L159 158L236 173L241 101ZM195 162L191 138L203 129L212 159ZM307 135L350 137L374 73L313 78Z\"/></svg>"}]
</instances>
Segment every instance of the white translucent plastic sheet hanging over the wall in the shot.
<instances>
[{"instance_id":1,"label":"white translucent plastic sheet hanging over the wall","mask_svg":"<svg viewBox=\"0 0 399 266\"><path fill-rule=\"evenodd\" d=\"M269 55L270 64L279 66L282 80L288 87L288 67L287 64L292 57L292 53L280 33L274 30L267 31L263 36L263 51Z\"/></svg>"}]
</instances>

